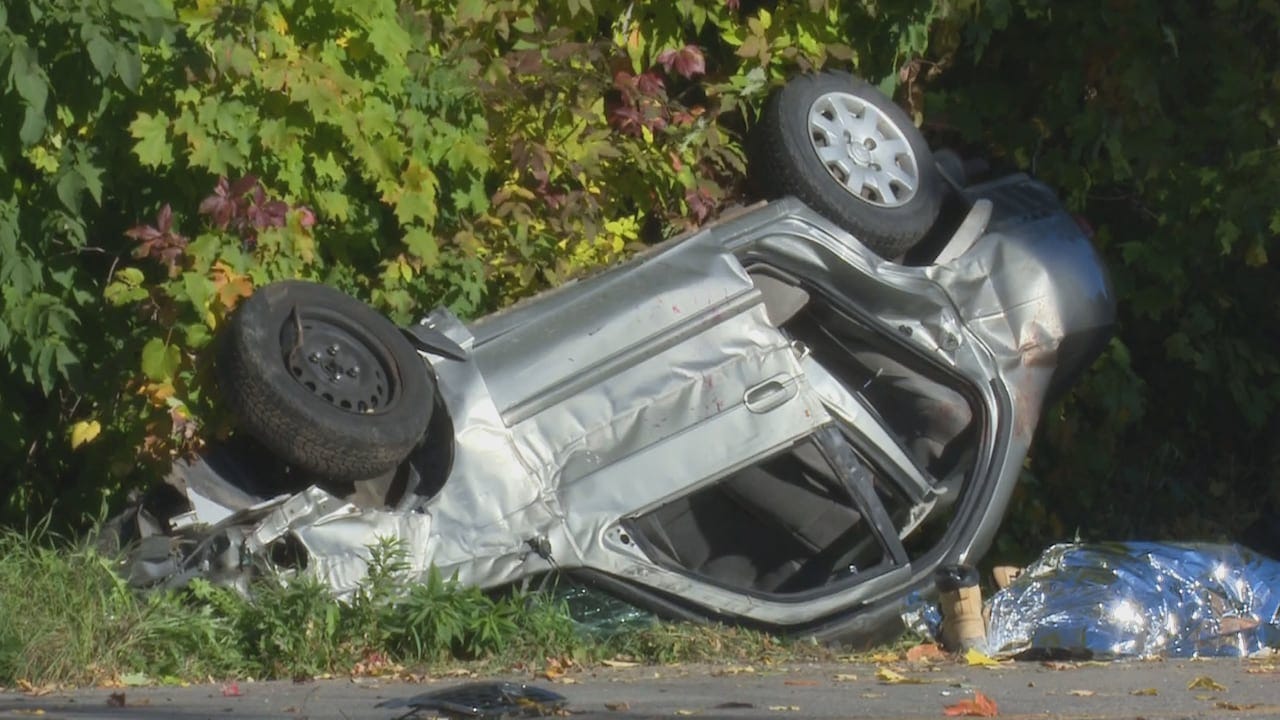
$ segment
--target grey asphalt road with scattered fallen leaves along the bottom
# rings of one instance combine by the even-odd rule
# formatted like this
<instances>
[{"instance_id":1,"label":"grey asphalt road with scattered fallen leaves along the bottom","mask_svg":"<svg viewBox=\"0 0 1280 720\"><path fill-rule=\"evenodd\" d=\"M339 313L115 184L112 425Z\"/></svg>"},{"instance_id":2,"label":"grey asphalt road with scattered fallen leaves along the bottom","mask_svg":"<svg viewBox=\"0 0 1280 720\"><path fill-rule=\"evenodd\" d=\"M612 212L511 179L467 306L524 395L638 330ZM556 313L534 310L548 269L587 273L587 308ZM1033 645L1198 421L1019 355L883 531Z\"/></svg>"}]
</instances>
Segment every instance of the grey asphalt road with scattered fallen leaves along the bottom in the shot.
<instances>
[{"instance_id":1,"label":"grey asphalt road with scattered fallen leaves along the bottom","mask_svg":"<svg viewBox=\"0 0 1280 720\"><path fill-rule=\"evenodd\" d=\"M919 683L886 682L884 669ZM397 711L374 707L378 702L489 679L531 683L559 692L568 698L567 708L575 717L616 720L681 716L936 719L946 716L947 706L972 701L975 691L995 701L1000 717L1280 717L1280 657L1271 657L1019 662L996 667L956 661L602 667L571 673L556 682L525 674L422 683L362 678L186 688L95 688L42 696L4 692L0 693L0 719L390 720L398 716ZM116 694L114 701L113 693Z\"/></svg>"}]
</instances>

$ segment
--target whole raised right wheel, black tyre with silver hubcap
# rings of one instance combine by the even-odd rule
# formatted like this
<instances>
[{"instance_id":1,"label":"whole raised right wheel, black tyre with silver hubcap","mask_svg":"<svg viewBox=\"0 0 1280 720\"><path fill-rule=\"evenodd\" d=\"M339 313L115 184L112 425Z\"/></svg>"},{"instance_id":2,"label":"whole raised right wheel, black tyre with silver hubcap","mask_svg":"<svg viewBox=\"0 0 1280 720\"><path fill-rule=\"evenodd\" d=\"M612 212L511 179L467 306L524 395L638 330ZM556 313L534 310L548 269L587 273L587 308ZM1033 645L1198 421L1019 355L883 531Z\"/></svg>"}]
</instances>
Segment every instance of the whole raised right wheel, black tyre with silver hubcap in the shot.
<instances>
[{"instance_id":1,"label":"whole raised right wheel, black tyre with silver hubcap","mask_svg":"<svg viewBox=\"0 0 1280 720\"><path fill-rule=\"evenodd\" d=\"M844 131L835 145L833 129L812 126L815 113ZM873 124L854 126L864 118ZM796 77L769 97L753 132L749 174L765 197L794 195L888 259L933 227L945 192L906 113L865 81L835 72Z\"/></svg>"}]
</instances>

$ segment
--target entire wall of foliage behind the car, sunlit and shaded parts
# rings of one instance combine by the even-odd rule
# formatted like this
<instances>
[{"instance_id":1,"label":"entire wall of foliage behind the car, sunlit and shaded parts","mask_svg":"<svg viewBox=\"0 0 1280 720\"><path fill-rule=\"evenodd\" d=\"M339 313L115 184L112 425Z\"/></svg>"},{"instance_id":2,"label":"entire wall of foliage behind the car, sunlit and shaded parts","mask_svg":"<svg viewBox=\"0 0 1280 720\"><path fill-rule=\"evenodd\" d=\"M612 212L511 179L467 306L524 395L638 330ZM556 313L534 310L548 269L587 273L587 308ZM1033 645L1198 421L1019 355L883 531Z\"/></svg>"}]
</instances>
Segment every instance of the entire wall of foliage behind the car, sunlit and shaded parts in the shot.
<instances>
[{"instance_id":1,"label":"entire wall of foliage behind the car, sunlit and shaded parts","mask_svg":"<svg viewBox=\"0 0 1280 720\"><path fill-rule=\"evenodd\" d=\"M399 322L499 307L742 200L768 90L838 67L896 91L936 143L1048 181L1115 272L1120 340L1044 424L1006 542L1247 520L1280 501L1277 13L10 3L0 518L56 500L76 523L227 432L209 347L253 287L320 279ZM1219 511L1162 520L1187 506Z\"/></svg>"}]
</instances>

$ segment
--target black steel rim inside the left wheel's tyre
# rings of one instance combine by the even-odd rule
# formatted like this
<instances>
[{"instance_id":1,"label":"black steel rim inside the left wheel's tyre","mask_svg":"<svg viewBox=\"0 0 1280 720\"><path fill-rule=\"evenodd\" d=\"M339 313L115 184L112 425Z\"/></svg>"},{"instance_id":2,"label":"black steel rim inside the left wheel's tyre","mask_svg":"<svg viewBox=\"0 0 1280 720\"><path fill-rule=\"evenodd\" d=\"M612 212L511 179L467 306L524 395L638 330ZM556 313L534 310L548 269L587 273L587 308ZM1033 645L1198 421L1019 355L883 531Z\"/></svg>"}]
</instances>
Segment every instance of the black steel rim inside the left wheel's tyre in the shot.
<instances>
[{"instance_id":1,"label":"black steel rim inside the left wheel's tyre","mask_svg":"<svg viewBox=\"0 0 1280 720\"><path fill-rule=\"evenodd\" d=\"M338 410L384 413L399 395L390 351L339 315L324 310L291 314L280 329L280 350L289 377Z\"/></svg>"}]
</instances>

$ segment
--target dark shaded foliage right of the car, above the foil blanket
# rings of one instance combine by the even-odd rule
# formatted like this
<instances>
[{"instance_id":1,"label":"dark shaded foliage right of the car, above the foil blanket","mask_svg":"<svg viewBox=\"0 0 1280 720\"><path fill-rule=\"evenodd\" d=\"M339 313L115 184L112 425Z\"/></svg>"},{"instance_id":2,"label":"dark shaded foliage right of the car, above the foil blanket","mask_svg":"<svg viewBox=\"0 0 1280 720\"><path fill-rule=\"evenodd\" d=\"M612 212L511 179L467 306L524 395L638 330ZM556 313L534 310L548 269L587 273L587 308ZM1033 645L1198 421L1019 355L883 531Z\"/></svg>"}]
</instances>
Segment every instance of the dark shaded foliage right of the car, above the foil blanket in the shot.
<instances>
[{"instance_id":1,"label":"dark shaded foliage right of the car, above the foil blanket","mask_svg":"<svg viewBox=\"0 0 1280 720\"><path fill-rule=\"evenodd\" d=\"M1009 542L1238 537L1280 501L1280 6L954 5L927 129L1060 188L1120 297L1119 340L1043 425Z\"/></svg>"}]
</instances>

